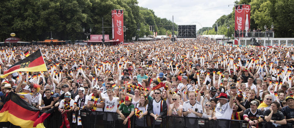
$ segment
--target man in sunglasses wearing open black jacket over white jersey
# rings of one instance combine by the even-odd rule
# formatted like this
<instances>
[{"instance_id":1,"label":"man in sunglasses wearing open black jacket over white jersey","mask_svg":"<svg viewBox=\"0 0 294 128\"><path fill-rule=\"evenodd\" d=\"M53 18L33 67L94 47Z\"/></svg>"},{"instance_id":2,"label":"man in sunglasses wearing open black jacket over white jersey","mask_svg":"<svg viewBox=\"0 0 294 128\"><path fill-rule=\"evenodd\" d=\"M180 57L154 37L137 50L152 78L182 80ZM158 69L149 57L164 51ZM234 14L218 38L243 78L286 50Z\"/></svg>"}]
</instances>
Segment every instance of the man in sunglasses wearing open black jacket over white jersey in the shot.
<instances>
[{"instance_id":1,"label":"man in sunglasses wearing open black jacket over white jersey","mask_svg":"<svg viewBox=\"0 0 294 128\"><path fill-rule=\"evenodd\" d=\"M161 118L166 118L167 113L168 113L168 106L166 104L166 101L163 100L161 97L161 91L160 89L156 89L154 91L154 99L149 101L148 104L148 114L152 117L154 117L154 119L161 119ZM155 106L155 107L153 107ZM160 127L160 122L156 121L155 123L155 127Z\"/></svg>"}]
</instances>

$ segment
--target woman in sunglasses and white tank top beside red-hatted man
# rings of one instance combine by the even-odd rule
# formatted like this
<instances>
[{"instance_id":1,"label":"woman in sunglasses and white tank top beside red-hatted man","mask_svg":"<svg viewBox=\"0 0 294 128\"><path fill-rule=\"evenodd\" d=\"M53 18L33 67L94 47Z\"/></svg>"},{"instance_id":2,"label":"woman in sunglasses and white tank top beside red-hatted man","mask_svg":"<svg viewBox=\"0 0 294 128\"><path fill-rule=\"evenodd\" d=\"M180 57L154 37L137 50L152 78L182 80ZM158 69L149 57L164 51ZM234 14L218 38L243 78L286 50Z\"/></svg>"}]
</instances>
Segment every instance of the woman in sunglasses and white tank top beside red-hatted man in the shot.
<instances>
[{"instance_id":1,"label":"woman in sunglasses and white tank top beside red-hatted man","mask_svg":"<svg viewBox=\"0 0 294 128\"><path fill-rule=\"evenodd\" d=\"M201 105L203 109L202 118L208 118L209 120L211 120L213 117L213 110L211 110L211 102L207 101L205 104L203 104L205 99L210 99L209 94L205 95L204 98L202 98L201 100Z\"/></svg>"}]
</instances>

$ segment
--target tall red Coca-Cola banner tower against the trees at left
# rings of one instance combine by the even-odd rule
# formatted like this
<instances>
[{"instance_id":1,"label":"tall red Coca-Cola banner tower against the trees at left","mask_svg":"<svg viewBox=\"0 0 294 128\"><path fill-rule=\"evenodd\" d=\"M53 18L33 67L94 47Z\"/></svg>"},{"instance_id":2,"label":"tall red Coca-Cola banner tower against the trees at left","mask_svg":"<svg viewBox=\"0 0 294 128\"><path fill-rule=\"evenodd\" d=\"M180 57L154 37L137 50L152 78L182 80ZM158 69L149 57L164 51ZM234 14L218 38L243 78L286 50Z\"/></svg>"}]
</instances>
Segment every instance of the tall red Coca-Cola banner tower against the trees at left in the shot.
<instances>
[{"instance_id":1,"label":"tall red Coca-Cola banner tower against the trees at left","mask_svg":"<svg viewBox=\"0 0 294 128\"><path fill-rule=\"evenodd\" d=\"M123 42L123 10L111 10L112 39Z\"/></svg>"}]
</instances>

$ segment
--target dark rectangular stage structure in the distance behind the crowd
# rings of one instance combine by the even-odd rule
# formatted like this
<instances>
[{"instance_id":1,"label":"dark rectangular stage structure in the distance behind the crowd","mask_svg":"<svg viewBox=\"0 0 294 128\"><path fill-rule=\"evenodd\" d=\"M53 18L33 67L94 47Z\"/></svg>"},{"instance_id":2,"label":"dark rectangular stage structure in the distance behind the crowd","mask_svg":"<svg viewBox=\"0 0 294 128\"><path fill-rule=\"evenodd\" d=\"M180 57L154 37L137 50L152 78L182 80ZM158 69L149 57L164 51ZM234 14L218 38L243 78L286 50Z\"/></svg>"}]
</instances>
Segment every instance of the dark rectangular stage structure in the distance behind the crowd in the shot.
<instances>
[{"instance_id":1,"label":"dark rectangular stage structure in the distance behind the crowd","mask_svg":"<svg viewBox=\"0 0 294 128\"><path fill-rule=\"evenodd\" d=\"M196 38L196 25L179 25L177 38Z\"/></svg>"}]
</instances>

